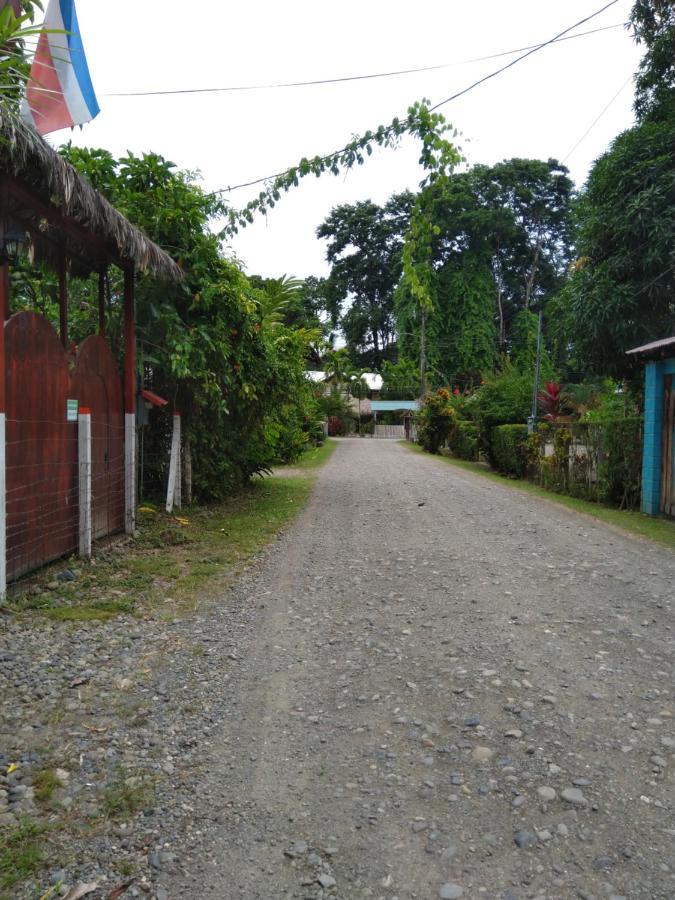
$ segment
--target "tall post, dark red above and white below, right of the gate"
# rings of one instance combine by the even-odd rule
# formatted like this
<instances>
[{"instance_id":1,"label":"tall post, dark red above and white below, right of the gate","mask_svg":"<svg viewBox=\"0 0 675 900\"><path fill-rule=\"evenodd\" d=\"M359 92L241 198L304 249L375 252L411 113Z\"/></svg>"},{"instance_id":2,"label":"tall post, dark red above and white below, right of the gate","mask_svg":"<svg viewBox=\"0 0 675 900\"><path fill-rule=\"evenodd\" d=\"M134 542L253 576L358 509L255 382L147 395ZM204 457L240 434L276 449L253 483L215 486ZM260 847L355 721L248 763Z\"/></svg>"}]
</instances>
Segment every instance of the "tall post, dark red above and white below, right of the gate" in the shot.
<instances>
[{"instance_id":1,"label":"tall post, dark red above and white below, right of the gate","mask_svg":"<svg viewBox=\"0 0 675 900\"><path fill-rule=\"evenodd\" d=\"M136 308L134 269L124 270L124 507L125 531L136 531Z\"/></svg>"}]
</instances>

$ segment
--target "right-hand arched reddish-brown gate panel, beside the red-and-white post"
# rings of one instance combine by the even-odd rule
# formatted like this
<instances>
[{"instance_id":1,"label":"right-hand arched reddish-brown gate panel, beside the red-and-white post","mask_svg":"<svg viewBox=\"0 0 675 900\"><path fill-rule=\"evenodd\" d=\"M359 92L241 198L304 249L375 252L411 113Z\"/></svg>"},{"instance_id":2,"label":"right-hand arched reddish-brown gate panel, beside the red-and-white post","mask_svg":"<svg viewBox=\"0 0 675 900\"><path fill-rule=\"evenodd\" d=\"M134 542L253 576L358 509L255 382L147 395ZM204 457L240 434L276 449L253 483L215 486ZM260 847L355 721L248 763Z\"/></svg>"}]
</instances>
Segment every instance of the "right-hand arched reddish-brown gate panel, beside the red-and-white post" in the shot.
<instances>
[{"instance_id":1,"label":"right-hand arched reddish-brown gate panel, beside the red-and-white post","mask_svg":"<svg viewBox=\"0 0 675 900\"><path fill-rule=\"evenodd\" d=\"M91 522L96 540L124 528L122 383L110 348L99 335L80 344L71 396L91 410Z\"/></svg>"}]
</instances>

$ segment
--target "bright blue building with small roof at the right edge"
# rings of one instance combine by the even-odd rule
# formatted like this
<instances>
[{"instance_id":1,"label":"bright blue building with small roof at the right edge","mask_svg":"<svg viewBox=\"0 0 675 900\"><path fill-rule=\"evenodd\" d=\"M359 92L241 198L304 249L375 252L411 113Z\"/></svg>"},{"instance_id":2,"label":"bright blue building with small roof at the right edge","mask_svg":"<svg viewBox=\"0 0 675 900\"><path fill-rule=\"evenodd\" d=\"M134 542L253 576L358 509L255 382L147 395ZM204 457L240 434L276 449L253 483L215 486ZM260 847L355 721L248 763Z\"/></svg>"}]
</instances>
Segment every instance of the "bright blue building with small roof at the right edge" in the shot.
<instances>
[{"instance_id":1,"label":"bright blue building with small roof at the right edge","mask_svg":"<svg viewBox=\"0 0 675 900\"><path fill-rule=\"evenodd\" d=\"M675 516L675 337L628 353L645 363L642 512Z\"/></svg>"}]
</instances>

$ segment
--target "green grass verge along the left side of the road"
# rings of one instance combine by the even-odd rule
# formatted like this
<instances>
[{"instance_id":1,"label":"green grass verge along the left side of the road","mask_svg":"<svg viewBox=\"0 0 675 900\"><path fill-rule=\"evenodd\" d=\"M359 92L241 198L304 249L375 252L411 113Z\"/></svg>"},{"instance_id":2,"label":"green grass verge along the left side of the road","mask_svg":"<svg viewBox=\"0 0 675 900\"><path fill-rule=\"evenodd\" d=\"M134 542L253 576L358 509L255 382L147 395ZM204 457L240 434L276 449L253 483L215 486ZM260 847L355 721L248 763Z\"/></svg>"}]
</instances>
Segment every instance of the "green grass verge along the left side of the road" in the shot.
<instances>
[{"instance_id":1,"label":"green grass verge along the left side of the road","mask_svg":"<svg viewBox=\"0 0 675 900\"><path fill-rule=\"evenodd\" d=\"M8 603L18 615L57 622L107 621L150 607L171 615L172 606L191 601L207 585L232 579L276 537L306 503L318 468L336 446L329 440L287 473L254 478L218 504L176 516L142 507L140 536L132 545L102 548L91 564L60 560L17 585ZM66 567L76 568L77 578L47 589Z\"/></svg>"}]
</instances>

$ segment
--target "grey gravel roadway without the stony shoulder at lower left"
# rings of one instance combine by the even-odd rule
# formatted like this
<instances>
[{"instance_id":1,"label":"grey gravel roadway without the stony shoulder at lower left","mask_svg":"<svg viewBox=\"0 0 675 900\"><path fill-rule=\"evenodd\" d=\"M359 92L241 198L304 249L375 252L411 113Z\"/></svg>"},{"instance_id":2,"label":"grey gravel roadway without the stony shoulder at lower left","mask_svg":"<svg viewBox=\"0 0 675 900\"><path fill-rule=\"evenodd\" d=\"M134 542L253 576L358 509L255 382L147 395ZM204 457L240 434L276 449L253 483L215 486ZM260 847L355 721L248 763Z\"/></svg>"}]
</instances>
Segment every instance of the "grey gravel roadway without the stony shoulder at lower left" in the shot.
<instances>
[{"instance_id":1,"label":"grey gravel roadway without the stony shoulder at lower left","mask_svg":"<svg viewBox=\"0 0 675 900\"><path fill-rule=\"evenodd\" d=\"M202 621L219 713L158 896L672 900L674 594L666 549L342 441Z\"/></svg>"}]
</instances>

